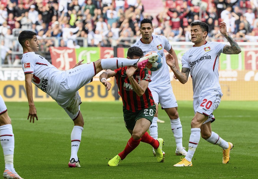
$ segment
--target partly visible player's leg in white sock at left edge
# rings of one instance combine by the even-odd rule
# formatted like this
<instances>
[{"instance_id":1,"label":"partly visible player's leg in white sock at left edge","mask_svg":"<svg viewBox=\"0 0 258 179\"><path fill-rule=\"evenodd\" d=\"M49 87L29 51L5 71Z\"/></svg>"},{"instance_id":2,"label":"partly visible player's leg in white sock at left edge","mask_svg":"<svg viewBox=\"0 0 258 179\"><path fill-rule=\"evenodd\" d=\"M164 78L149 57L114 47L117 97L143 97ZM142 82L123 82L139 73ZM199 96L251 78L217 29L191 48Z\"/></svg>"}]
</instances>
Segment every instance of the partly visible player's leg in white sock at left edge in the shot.
<instances>
[{"instance_id":1,"label":"partly visible player's leg in white sock at left edge","mask_svg":"<svg viewBox=\"0 0 258 179\"><path fill-rule=\"evenodd\" d=\"M4 152L4 178L22 179L14 170L14 134L12 132L12 121L8 115L7 107L0 95L0 141Z\"/></svg>"}]
</instances>

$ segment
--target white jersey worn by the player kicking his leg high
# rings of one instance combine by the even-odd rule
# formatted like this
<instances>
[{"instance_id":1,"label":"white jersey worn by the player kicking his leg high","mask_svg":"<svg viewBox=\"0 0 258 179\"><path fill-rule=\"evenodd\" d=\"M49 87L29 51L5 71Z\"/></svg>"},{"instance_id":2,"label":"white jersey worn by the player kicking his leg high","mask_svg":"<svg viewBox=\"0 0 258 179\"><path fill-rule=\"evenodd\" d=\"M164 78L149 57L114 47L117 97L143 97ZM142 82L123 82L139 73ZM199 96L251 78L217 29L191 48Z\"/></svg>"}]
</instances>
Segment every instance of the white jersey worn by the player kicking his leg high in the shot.
<instances>
[{"instance_id":1,"label":"white jersey worn by the player kicking his leg high","mask_svg":"<svg viewBox=\"0 0 258 179\"><path fill-rule=\"evenodd\" d=\"M61 80L64 78L61 75L63 71L58 70L44 57L35 54L35 52L22 54L21 62L24 74L33 74L32 83L48 93L53 99L56 99Z\"/></svg>"}]
</instances>

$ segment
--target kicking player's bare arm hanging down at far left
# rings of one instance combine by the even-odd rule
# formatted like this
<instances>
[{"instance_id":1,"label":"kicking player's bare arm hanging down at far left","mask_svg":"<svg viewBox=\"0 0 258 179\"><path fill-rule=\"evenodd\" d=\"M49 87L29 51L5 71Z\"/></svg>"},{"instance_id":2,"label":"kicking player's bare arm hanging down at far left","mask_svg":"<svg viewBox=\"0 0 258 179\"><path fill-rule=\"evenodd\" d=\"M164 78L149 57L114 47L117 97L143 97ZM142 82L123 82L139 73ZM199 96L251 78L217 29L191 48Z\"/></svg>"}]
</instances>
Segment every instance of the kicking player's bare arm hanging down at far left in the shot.
<instances>
[{"instance_id":1,"label":"kicking player's bare arm hanging down at far left","mask_svg":"<svg viewBox=\"0 0 258 179\"><path fill-rule=\"evenodd\" d=\"M25 88L27 93L27 99L29 102L29 115L27 117L27 120L30 118L30 122L32 119L32 123L34 123L34 118L36 117L36 120L38 120L38 116L37 116L37 110L34 105L33 96L32 96L32 83L31 83L32 78L33 78L33 74L25 75Z\"/></svg>"}]
</instances>

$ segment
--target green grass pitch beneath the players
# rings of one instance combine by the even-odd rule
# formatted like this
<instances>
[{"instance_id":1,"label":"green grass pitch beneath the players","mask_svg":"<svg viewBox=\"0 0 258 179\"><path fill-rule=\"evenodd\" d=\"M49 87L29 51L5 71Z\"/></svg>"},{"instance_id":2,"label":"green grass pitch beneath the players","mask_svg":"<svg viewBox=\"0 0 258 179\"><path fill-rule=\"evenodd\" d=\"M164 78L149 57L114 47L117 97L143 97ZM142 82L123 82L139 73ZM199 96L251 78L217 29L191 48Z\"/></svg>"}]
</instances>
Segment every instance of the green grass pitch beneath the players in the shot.
<instances>
[{"instance_id":1,"label":"green grass pitch beneath the players","mask_svg":"<svg viewBox=\"0 0 258 179\"><path fill-rule=\"evenodd\" d=\"M178 101L187 148L192 101ZM257 178L258 101L222 101L215 110L212 130L234 145L231 160L222 164L222 151L201 138L192 160L193 167L173 167L180 161L168 116L159 110L159 137L165 143L165 162L157 163L146 143L132 151L118 167L107 165L130 138L123 121L122 103L83 102L85 125L78 156L80 168L68 168L73 122L56 102L36 102L38 121L29 123L28 103L6 102L15 136L14 167L25 179L56 178ZM188 148L187 148L188 149ZM1 154L1 171L4 157Z\"/></svg>"}]
</instances>

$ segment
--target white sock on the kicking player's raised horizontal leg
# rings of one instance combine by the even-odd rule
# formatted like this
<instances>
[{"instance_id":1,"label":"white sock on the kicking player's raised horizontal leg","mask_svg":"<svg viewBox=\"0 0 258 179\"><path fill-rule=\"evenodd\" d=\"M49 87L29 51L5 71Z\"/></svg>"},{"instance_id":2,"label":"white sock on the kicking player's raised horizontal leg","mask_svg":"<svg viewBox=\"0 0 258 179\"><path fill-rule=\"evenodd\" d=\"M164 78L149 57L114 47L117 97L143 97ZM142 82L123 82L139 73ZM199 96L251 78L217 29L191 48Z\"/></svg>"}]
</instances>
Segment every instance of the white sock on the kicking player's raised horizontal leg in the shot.
<instances>
[{"instance_id":1,"label":"white sock on the kicking player's raised horizontal leg","mask_svg":"<svg viewBox=\"0 0 258 179\"><path fill-rule=\"evenodd\" d=\"M103 69L115 70L120 67L133 66L139 59L127 59L127 58L107 58L101 60L101 67Z\"/></svg>"}]
</instances>

